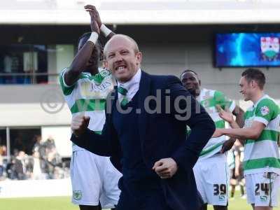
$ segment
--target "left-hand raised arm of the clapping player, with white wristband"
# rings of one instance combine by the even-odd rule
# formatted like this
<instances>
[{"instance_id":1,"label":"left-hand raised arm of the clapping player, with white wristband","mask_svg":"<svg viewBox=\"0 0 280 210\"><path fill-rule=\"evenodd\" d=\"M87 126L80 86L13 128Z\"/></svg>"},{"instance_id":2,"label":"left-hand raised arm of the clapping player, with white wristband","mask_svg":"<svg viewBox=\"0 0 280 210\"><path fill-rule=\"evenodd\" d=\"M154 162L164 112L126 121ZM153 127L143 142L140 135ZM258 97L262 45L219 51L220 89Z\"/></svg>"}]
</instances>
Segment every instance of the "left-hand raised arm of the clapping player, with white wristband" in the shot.
<instances>
[{"instance_id":1,"label":"left-hand raised arm of the clapping player, with white wristband","mask_svg":"<svg viewBox=\"0 0 280 210\"><path fill-rule=\"evenodd\" d=\"M90 28L92 30L92 34L90 38L85 42L83 47L78 50L77 55L74 57L73 62L69 66L68 71L64 73L64 81L66 85L73 85L78 80L80 73L85 69L87 62L90 60L92 55L92 50L94 49L94 45L97 42L98 36L100 34L99 27L97 25L96 20L94 19L94 15L91 11L90 13Z\"/></svg>"}]
</instances>

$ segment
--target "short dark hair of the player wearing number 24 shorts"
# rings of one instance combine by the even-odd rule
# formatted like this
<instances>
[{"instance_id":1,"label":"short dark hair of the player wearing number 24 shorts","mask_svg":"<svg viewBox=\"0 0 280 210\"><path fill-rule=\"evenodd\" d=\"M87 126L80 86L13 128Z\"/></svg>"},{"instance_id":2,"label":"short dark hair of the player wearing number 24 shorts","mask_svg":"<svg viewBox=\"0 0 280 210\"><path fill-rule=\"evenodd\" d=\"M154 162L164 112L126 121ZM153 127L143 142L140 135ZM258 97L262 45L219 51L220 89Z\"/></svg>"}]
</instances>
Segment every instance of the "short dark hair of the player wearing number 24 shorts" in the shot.
<instances>
[{"instance_id":1,"label":"short dark hair of the player wearing number 24 shorts","mask_svg":"<svg viewBox=\"0 0 280 210\"><path fill-rule=\"evenodd\" d=\"M243 71L241 76L244 76L248 83L250 83L252 80L255 80L255 82L260 87L260 90L263 90L263 87L265 86L265 74L262 73L260 69L246 69L245 71Z\"/></svg>"}]
</instances>

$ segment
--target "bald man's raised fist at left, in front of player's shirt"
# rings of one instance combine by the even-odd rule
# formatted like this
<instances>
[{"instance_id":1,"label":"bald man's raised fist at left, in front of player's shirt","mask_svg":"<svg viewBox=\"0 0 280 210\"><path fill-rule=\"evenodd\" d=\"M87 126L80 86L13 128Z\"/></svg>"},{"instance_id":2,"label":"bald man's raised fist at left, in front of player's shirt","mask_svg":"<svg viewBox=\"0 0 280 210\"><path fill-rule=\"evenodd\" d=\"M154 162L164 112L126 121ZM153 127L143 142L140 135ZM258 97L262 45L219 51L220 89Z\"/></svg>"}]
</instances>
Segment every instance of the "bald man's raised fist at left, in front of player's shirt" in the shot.
<instances>
[{"instance_id":1,"label":"bald man's raised fist at left, in front of player's shirt","mask_svg":"<svg viewBox=\"0 0 280 210\"><path fill-rule=\"evenodd\" d=\"M71 130L76 137L82 135L87 129L88 123L90 123L90 117L88 116L75 116L72 118Z\"/></svg>"}]
</instances>

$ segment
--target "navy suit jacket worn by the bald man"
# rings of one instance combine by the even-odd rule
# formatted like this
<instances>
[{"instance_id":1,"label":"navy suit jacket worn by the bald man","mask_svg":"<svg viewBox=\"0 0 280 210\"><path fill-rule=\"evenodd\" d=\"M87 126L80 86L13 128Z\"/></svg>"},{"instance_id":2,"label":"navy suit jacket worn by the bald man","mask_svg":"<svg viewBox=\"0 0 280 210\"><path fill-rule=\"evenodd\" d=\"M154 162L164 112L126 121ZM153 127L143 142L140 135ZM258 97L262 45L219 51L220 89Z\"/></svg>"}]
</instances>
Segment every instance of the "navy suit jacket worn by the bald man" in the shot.
<instances>
[{"instance_id":1,"label":"navy suit jacket worn by the bald man","mask_svg":"<svg viewBox=\"0 0 280 210\"><path fill-rule=\"evenodd\" d=\"M116 91L113 92L106 101L106 123L102 135L86 130L79 138L72 135L71 141L92 153L111 157L113 165L121 172L122 150L111 113L117 95ZM149 111L146 109L147 97L153 97L148 104ZM197 192L193 167L214 133L213 120L175 76L153 76L142 71L139 107L139 122L133 123L139 127L146 166L151 169L162 158L173 158L179 166L171 179L161 181L167 204L176 210L199 209L202 200ZM186 125L192 130L188 139Z\"/></svg>"}]
</instances>

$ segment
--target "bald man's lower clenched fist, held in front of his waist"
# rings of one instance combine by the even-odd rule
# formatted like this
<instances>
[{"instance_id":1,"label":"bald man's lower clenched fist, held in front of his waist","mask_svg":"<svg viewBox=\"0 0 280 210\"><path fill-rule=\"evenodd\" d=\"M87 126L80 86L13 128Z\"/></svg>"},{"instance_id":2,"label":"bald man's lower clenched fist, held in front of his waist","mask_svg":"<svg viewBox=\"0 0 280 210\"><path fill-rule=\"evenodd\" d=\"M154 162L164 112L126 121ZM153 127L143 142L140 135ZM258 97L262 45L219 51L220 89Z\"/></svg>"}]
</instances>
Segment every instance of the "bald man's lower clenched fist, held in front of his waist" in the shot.
<instances>
[{"instance_id":1,"label":"bald man's lower clenched fist, held in front of his waist","mask_svg":"<svg viewBox=\"0 0 280 210\"><path fill-rule=\"evenodd\" d=\"M178 170L177 163L172 158L163 158L155 162L153 170L161 179L169 179L176 174Z\"/></svg>"}]
</instances>

